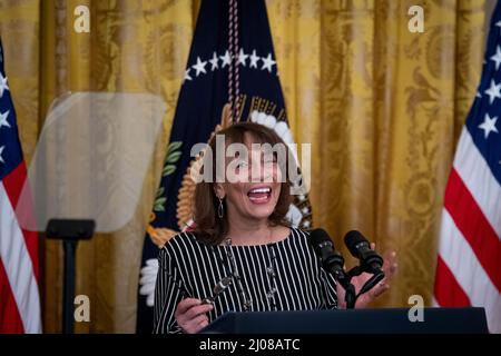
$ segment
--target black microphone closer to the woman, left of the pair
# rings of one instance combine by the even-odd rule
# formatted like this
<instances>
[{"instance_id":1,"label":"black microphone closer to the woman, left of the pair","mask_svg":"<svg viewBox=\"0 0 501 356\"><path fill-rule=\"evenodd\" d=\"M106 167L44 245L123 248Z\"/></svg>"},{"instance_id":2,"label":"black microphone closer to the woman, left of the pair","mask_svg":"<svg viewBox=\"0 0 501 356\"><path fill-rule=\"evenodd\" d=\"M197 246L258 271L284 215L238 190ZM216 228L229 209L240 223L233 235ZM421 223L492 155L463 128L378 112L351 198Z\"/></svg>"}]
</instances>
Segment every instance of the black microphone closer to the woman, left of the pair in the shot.
<instances>
[{"instance_id":1,"label":"black microphone closer to the woman, left of the pair","mask_svg":"<svg viewBox=\"0 0 501 356\"><path fill-rule=\"evenodd\" d=\"M334 244L324 229L314 229L310 233L311 244L315 254L322 261L322 267L334 275L334 278L347 289L350 276L344 270L344 258L335 250Z\"/></svg>"}]
</instances>

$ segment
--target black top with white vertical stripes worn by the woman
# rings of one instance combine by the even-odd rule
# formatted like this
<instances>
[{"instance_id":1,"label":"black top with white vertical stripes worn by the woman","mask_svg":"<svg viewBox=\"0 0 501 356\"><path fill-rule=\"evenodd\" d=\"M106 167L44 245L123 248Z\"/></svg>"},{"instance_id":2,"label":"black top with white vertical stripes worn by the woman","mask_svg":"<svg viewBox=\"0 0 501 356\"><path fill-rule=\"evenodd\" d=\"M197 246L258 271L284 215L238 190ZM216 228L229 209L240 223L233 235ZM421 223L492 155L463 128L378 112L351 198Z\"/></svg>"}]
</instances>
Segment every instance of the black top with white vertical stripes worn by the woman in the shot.
<instances>
[{"instance_id":1,"label":"black top with white vertical stripes worn by the woman","mask_svg":"<svg viewBox=\"0 0 501 356\"><path fill-rule=\"evenodd\" d=\"M209 322L229 310L336 308L336 283L321 268L308 237L291 228L286 239L274 244L210 246L193 233L176 235L158 257L154 333L180 333L174 317L177 304L212 297L225 277L232 284L216 297Z\"/></svg>"}]
</instances>

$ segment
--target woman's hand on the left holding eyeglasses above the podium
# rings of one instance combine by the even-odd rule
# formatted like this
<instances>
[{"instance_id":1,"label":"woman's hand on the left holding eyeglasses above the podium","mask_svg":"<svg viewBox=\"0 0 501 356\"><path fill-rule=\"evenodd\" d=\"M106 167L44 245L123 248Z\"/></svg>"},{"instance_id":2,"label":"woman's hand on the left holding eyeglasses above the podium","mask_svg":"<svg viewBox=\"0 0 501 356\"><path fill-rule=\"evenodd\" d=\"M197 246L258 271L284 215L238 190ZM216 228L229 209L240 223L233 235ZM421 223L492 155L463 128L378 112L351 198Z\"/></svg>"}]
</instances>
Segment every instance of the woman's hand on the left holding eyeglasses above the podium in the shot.
<instances>
[{"instance_id":1,"label":"woman's hand on the left holding eyeglasses above the podium","mask_svg":"<svg viewBox=\"0 0 501 356\"><path fill-rule=\"evenodd\" d=\"M206 313L214 309L212 304L202 304L200 299L186 298L177 305L174 317L184 333L195 334L208 325Z\"/></svg>"}]
</instances>

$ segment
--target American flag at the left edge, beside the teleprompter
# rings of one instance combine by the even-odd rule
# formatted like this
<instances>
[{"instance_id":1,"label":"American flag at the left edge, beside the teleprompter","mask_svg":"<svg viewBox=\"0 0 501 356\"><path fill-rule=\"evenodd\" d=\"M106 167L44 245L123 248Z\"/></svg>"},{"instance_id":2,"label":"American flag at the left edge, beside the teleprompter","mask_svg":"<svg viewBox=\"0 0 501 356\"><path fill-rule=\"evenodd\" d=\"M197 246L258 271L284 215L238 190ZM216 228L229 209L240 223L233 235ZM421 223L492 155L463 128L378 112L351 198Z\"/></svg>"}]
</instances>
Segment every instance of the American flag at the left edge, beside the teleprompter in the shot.
<instances>
[{"instance_id":1,"label":"American flag at the left edge, beside the teleprompter","mask_svg":"<svg viewBox=\"0 0 501 356\"><path fill-rule=\"evenodd\" d=\"M40 333L38 236L16 206L27 178L0 41L0 334Z\"/></svg>"}]
</instances>

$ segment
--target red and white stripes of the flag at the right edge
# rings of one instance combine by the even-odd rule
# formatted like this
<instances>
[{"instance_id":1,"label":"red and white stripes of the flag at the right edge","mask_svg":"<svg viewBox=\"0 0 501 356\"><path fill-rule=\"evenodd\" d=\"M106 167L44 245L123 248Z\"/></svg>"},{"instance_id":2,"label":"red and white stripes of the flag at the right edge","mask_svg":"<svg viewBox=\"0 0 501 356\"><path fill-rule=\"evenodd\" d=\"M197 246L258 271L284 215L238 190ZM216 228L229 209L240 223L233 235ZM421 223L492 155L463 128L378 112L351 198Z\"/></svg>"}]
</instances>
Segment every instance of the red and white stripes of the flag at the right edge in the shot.
<instances>
[{"instance_id":1,"label":"red and white stripes of the flag at the right edge","mask_svg":"<svg viewBox=\"0 0 501 356\"><path fill-rule=\"evenodd\" d=\"M501 333L501 186L463 129L445 189L434 298L442 307L484 307Z\"/></svg>"}]
</instances>

